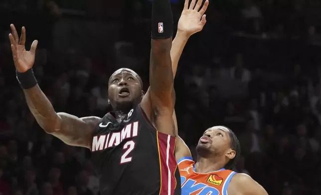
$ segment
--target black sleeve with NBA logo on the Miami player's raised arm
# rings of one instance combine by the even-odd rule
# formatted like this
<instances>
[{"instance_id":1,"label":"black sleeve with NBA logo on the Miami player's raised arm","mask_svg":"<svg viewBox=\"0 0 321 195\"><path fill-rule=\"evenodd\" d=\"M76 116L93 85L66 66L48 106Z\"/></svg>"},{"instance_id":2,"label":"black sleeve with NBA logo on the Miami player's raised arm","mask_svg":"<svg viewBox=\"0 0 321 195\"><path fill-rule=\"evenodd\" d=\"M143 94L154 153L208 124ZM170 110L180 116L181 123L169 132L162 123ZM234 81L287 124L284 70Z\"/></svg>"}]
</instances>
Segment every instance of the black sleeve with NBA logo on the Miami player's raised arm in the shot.
<instances>
[{"instance_id":1,"label":"black sleeve with NBA logo on the Miami player's raised arm","mask_svg":"<svg viewBox=\"0 0 321 195\"><path fill-rule=\"evenodd\" d=\"M167 39L173 35L173 14L169 0L153 0L152 39Z\"/></svg>"}]
</instances>

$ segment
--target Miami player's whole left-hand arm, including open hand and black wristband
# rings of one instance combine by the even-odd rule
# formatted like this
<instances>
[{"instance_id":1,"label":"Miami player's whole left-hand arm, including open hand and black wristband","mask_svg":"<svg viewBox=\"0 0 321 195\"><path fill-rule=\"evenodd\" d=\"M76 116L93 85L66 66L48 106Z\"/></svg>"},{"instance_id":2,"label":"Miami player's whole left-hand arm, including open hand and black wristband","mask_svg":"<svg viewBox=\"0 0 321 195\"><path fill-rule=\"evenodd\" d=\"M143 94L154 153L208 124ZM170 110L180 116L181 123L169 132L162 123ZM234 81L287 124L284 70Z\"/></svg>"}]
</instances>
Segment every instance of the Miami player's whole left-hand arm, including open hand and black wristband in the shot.
<instances>
[{"instance_id":1,"label":"Miami player's whole left-hand arm, including open hand and black wristband","mask_svg":"<svg viewBox=\"0 0 321 195\"><path fill-rule=\"evenodd\" d=\"M22 27L20 40L13 24L9 34L16 76L25 95L28 107L38 124L46 133L52 134L73 146L91 148L94 127L100 118L78 118L67 113L56 113L49 99L39 88L33 75L37 41L33 41L30 51L26 51L25 28Z\"/></svg>"}]
</instances>

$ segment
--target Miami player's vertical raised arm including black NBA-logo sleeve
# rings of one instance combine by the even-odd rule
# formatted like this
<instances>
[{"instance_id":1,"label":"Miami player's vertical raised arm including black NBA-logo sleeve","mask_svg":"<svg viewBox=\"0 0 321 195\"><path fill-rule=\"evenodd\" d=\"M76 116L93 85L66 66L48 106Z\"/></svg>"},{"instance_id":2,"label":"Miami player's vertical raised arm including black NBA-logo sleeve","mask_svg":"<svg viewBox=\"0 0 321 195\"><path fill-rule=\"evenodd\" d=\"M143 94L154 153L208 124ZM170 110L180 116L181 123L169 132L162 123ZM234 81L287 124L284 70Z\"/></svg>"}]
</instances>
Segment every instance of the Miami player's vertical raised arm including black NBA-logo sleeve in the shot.
<instances>
[{"instance_id":1,"label":"Miami player's vertical raised arm including black NBA-logo sleeve","mask_svg":"<svg viewBox=\"0 0 321 195\"><path fill-rule=\"evenodd\" d=\"M158 131L175 136L175 92L170 49L173 16L169 0L153 0L150 88L141 106Z\"/></svg>"}]
</instances>

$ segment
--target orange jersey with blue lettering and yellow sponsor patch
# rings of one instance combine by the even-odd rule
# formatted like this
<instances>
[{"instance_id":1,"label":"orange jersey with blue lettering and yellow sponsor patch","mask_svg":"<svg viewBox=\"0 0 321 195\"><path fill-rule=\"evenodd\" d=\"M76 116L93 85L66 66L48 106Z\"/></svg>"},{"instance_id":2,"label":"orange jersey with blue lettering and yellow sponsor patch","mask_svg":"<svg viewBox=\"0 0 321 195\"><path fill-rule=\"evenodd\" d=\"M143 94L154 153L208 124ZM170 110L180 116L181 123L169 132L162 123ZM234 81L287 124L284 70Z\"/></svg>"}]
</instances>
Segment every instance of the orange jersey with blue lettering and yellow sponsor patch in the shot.
<instances>
[{"instance_id":1,"label":"orange jersey with blue lettering and yellow sponsor patch","mask_svg":"<svg viewBox=\"0 0 321 195\"><path fill-rule=\"evenodd\" d=\"M235 172L220 169L211 173L196 173L191 157L177 161L182 195L227 195L227 186Z\"/></svg>"}]
</instances>

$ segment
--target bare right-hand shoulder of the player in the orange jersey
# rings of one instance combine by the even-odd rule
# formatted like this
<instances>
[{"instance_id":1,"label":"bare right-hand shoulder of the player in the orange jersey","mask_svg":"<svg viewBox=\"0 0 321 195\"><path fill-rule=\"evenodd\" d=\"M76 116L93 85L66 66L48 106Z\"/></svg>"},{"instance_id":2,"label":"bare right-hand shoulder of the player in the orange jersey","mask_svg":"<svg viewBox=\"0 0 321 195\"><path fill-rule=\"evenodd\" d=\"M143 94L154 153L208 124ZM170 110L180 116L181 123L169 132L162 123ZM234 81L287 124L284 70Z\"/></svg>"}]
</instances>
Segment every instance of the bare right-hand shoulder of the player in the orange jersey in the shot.
<instances>
[{"instance_id":1,"label":"bare right-hand shoulder of the player in the orange jersey","mask_svg":"<svg viewBox=\"0 0 321 195\"><path fill-rule=\"evenodd\" d=\"M230 188L236 189L242 195L268 195L264 188L249 175L238 173L233 176ZM229 193L230 194L230 193Z\"/></svg>"}]
</instances>

